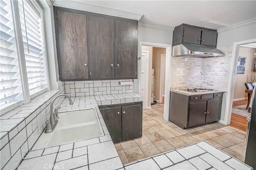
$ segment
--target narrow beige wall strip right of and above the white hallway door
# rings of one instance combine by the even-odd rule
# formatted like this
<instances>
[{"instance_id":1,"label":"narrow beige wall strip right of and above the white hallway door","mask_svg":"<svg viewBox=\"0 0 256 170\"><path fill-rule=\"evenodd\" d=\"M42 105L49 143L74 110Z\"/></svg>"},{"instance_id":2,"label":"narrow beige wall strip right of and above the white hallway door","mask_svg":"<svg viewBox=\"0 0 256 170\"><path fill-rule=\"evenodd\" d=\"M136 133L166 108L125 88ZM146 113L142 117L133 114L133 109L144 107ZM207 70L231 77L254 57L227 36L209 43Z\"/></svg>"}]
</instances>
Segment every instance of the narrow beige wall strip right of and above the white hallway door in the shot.
<instances>
[{"instance_id":1,"label":"narrow beige wall strip right of and above the white hallway door","mask_svg":"<svg viewBox=\"0 0 256 170\"><path fill-rule=\"evenodd\" d=\"M149 66L148 66L148 107L151 106L151 70L152 70L152 55L153 47L142 46L142 51L149 51Z\"/></svg>"}]
</instances>

